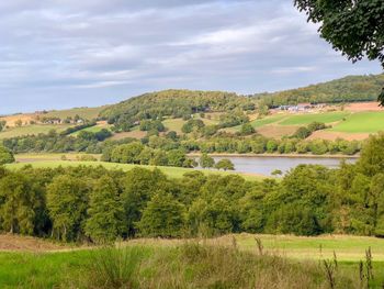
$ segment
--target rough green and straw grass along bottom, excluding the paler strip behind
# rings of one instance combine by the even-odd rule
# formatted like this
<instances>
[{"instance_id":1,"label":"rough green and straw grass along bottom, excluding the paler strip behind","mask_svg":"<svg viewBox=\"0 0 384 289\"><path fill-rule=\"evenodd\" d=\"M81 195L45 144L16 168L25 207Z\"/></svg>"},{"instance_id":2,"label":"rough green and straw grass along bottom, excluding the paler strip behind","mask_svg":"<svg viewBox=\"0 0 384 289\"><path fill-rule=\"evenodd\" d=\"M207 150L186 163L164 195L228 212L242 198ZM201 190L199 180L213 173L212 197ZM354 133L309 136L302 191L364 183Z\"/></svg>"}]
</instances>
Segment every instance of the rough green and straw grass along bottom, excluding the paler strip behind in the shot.
<instances>
[{"instance_id":1,"label":"rough green and straw grass along bottom, excluding the paler strip behind","mask_svg":"<svg viewBox=\"0 0 384 289\"><path fill-rule=\"evenodd\" d=\"M236 244L2 253L0 263L0 288L329 288L319 263L241 252ZM357 264L340 263L335 280L335 288L361 288Z\"/></svg>"}]
</instances>

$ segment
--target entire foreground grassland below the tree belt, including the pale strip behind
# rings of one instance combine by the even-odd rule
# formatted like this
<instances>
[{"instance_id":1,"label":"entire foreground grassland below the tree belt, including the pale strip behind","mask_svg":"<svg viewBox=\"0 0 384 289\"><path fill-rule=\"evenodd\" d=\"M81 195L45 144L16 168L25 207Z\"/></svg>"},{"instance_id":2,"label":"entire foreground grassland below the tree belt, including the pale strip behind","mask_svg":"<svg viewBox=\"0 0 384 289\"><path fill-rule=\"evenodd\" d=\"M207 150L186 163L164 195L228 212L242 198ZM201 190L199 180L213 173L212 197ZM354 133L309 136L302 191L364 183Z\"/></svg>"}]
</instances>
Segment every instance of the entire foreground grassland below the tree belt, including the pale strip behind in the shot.
<instances>
[{"instance_id":1,"label":"entire foreground grassland below the tree belt, including the pale strip behind","mask_svg":"<svg viewBox=\"0 0 384 289\"><path fill-rule=\"evenodd\" d=\"M371 288L382 288L384 281L384 263L377 253L384 241L234 236L201 240L200 245L197 241L134 240L118 248L0 253L0 288L255 288L250 287L255 282L256 288L329 288L324 264L318 260L332 258L334 253L321 255L320 244L324 252L335 249L337 255L335 288L363 288L357 260L364 260L368 246L372 246L375 276ZM262 254L255 237L262 242ZM300 249L312 251L310 259L297 254ZM340 254L341 249L354 252L359 258ZM116 282L109 284L112 280ZM123 287L122 282L133 284Z\"/></svg>"}]
</instances>

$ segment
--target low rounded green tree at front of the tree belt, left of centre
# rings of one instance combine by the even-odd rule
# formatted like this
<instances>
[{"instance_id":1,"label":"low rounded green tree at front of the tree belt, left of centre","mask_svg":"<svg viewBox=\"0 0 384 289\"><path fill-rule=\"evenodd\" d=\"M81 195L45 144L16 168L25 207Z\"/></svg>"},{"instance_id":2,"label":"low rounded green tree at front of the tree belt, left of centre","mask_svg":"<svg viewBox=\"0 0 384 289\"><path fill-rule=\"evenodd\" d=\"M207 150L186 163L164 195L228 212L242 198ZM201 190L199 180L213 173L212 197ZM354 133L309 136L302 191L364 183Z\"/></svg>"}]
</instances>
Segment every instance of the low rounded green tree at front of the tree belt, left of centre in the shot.
<instances>
[{"instance_id":1,"label":"low rounded green tree at front of the tree belt, left of centre","mask_svg":"<svg viewBox=\"0 0 384 289\"><path fill-rule=\"evenodd\" d=\"M144 209L138 227L142 236L180 237L184 222L184 207L172 194L160 191Z\"/></svg>"}]
</instances>

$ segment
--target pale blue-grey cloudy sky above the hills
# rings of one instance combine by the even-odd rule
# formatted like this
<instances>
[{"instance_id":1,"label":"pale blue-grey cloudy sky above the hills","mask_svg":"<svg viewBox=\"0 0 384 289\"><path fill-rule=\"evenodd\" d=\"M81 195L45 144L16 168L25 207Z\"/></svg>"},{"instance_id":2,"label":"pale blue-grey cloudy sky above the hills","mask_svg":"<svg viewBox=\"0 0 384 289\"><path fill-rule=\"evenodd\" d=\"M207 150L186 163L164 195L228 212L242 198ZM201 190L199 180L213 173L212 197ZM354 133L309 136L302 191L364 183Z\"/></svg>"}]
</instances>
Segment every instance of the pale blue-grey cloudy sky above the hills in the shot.
<instances>
[{"instance_id":1,"label":"pale blue-grey cloudy sky above the hills","mask_svg":"<svg viewBox=\"0 0 384 289\"><path fill-rule=\"evenodd\" d=\"M335 52L291 0L0 1L0 114L382 73Z\"/></svg>"}]
</instances>

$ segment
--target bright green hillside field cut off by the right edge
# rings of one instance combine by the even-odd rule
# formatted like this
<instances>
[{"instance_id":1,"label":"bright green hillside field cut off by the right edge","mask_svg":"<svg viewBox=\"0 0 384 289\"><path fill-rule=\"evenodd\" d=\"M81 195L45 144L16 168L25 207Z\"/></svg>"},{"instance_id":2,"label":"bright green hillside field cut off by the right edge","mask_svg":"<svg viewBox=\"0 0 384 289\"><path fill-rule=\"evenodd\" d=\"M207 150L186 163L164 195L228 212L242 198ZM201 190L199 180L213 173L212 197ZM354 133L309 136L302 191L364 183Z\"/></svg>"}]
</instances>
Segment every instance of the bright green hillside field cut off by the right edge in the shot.
<instances>
[{"instance_id":1,"label":"bright green hillside field cut off by the right edge","mask_svg":"<svg viewBox=\"0 0 384 289\"><path fill-rule=\"evenodd\" d=\"M384 131L384 112L359 112L350 114L346 121L331 129L345 133L376 133Z\"/></svg>"}]
</instances>

